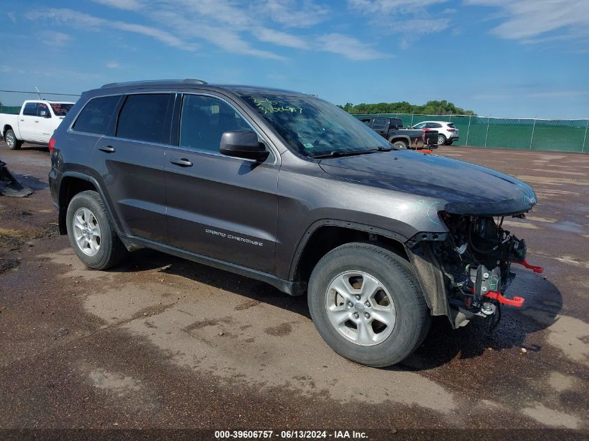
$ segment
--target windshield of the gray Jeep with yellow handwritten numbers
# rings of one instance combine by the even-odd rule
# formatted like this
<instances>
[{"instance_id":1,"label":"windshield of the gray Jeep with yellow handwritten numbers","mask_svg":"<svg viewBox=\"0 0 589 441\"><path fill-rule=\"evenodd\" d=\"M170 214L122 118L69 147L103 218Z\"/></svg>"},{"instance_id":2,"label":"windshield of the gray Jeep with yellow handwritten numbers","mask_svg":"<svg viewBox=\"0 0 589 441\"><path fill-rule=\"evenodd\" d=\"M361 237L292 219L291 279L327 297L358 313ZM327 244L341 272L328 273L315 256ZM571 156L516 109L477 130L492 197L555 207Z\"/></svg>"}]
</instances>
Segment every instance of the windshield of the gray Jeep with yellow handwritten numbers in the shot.
<instances>
[{"instance_id":1,"label":"windshield of the gray Jeep with yellow handwritten numbers","mask_svg":"<svg viewBox=\"0 0 589 441\"><path fill-rule=\"evenodd\" d=\"M305 156L362 152L391 146L346 111L319 98L243 96L284 141Z\"/></svg>"}]
</instances>

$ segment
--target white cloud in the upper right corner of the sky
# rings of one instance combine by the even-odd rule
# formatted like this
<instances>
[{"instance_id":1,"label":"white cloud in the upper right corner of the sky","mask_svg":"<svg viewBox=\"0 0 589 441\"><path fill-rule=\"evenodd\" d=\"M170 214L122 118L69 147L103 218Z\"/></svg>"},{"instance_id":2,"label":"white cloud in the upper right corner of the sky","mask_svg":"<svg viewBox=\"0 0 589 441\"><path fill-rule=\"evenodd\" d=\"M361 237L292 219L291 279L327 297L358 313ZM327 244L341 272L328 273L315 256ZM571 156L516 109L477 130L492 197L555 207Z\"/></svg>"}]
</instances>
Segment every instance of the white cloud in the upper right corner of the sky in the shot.
<instances>
[{"instance_id":1,"label":"white cloud in the upper right corner of the sky","mask_svg":"<svg viewBox=\"0 0 589 441\"><path fill-rule=\"evenodd\" d=\"M587 0L465 0L466 5L500 9L503 23L491 30L494 35L521 42L546 42L562 36L589 38ZM546 33L557 33L535 40Z\"/></svg>"}]
</instances>

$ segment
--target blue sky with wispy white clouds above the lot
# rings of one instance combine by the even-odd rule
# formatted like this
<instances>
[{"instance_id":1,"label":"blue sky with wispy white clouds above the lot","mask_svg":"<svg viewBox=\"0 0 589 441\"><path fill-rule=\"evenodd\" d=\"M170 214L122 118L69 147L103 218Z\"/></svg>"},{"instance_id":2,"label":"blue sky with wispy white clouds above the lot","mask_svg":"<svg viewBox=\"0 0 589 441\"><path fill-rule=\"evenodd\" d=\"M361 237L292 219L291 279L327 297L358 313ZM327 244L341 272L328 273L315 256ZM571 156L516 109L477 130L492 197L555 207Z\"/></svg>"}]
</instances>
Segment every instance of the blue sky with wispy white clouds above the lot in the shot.
<instances>
[{"instance_id":1,"label":"blue sky with wispy white clouds above the lot","mask_svg":"<svg viewBox=\"0 0 589 441\"><path fill-rule=\"evenodd\" d=\"M589 0L5 0L2 11L0 89L199 78L336 104L589 117Z\"/></svg>"}]
</instances>

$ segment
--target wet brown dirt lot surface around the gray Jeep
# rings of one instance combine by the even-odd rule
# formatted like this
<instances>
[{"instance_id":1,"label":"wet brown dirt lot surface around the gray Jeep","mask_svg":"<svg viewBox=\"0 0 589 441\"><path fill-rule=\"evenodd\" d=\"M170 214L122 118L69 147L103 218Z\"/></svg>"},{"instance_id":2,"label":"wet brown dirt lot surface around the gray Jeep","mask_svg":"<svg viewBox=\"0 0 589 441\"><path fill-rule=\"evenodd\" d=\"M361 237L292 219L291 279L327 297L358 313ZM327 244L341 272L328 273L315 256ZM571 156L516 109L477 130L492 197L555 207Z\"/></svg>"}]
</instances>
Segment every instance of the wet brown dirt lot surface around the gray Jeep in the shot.
<instances>
[{"instance_id":1,"label":"wet brown dirt lot surface around the gray Jeep","mask_svg":"<svg viewBox=\"0 0 589 441\"><path fill-rule=\"evenodd\" d=\"M438 318L404 364L371 369L323 343L303 296L150 250L86 270L57 231L46 148L0 145L0 159L35 189L0 196L0 428L587 436L589 155L438 153L533 185L539 205L504 225L545 272L515 268L508 294L526 302L505 308L494 333Z\"/></svg>"}]
</instances>

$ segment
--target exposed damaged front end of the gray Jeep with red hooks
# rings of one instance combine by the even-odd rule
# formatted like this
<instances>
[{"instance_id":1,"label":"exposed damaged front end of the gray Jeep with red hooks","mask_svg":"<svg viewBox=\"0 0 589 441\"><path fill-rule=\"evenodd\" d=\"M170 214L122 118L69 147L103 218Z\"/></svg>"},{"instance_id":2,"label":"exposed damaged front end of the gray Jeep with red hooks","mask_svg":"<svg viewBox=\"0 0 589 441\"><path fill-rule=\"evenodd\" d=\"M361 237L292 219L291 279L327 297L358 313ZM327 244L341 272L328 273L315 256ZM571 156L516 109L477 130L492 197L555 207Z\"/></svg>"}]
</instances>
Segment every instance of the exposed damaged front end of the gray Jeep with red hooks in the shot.
<instances>
[{"instance_id":1,"label":"exposed damaged front end of the gray Jeep with red hooks","mask_svg":"<svg viewBox=\"0 0 589 441\"><path fill-rule=\"evenodd\" d=\"M485 318L493 329L502 304L521 307L524 301L504 295L515 277L512 263L534 272L542 268L528 264L526 242L503 228L504 217L438 215L447 233L418 233L406 242L431 314L448 316L453 327Z\"/></svg>"}]
</instances>

